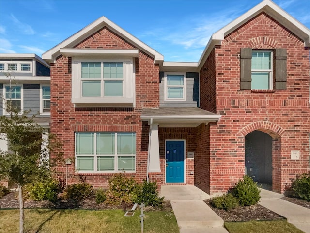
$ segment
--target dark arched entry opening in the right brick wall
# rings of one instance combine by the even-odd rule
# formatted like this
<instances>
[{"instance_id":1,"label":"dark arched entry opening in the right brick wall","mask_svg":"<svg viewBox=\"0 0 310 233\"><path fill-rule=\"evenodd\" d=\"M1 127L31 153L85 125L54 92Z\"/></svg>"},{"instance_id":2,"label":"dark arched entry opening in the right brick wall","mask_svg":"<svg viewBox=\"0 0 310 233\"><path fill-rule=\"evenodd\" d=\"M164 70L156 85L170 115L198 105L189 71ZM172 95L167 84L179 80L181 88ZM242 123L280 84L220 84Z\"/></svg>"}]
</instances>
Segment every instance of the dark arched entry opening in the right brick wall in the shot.
<instances>
[{"instance_id":1,"label":"dark arched entry opening in the right brick wall","mask_svg":"<svg viewBox=\"0 0 310 233\"><path fill-rule=\"evenodd\" d=\"M255 130L245 136L246 174L254 181L272 186L272 137Z\"/></svg>"}]
</instances>

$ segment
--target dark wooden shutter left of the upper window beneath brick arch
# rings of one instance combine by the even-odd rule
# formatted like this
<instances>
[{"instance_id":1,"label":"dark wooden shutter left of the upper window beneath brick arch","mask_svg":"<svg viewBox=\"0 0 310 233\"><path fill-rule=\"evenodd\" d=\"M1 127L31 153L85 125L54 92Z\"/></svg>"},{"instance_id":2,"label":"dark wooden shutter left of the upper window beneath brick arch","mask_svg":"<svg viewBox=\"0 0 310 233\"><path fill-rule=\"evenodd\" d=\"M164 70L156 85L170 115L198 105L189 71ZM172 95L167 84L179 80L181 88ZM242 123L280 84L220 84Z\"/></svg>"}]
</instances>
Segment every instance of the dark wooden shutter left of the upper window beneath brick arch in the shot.
<instances>
[{"instance_id":1,"label":"dark wooden shutter left of the upper window beneath brick arch","mask_svg":"<svg viewBox=\"0 0 310 233\"><path fill-rule=\"evenodd\" d=\"M251 89L252 49L242 48L240 52L240 89Z\"/></svg>"}]
</instances>

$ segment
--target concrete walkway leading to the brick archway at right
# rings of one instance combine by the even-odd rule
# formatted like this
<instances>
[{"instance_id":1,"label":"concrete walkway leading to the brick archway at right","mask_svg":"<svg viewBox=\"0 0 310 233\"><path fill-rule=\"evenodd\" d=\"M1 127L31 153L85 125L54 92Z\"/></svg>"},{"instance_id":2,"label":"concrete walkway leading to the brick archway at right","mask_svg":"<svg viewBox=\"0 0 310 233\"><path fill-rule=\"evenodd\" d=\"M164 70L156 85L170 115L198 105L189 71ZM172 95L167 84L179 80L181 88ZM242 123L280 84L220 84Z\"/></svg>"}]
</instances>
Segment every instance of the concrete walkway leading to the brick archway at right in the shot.
<instances>
[{"instance_id":1,"label":"concrete walkway leading to the brick archway at right","mask_svg":"<svg viewBox=\"0 0 310 233\"><path fill-rule=\"evenodd\" d=\"M310 209L282 200L283 195L261 189L260 205L283 216L289 223L305 233L310 233Z\"/></svg>"}]
</instances>

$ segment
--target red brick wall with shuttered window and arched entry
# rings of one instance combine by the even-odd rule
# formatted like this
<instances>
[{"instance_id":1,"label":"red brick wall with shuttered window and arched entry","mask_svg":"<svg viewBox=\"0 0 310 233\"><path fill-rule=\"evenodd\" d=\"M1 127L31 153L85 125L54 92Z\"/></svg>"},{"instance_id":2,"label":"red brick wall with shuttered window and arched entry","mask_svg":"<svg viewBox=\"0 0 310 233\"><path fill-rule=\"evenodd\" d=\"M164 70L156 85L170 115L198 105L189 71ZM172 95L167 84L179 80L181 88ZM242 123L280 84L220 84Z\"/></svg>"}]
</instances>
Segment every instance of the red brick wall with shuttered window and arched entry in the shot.
<instances>
[{"instance_id":1,"label":"red brick wall with shuttered window and arched entry","mask_svg":"<svg viewBox=\"0 0 310 233\"><path fill-rule=\"evenodd\" d=\"M240 90L240 49L287 49L287 90ZM215 54L215 55L214 55ZM273 189L283 192L295 174L309 169L309 48L264 13L230 33L213 50L204 67L216 64L216 112L210 126L210 193L227 191L244 174L244 136L262 130L273 136ZM200 72L201 90L208 77ZM214 79L214 78L213 78ZM210 89L214 85L209 86ZM205 91L201 102L214 96ZM212 110L209 105L201 106ZM206 146L207 147L207 146ZM300 150L300 160L291 160ZM197 173L197 172L196 172ZM206 182L208 178L206 177ZM207 182L208 183L208 182ZM206 184L205 189L208 189Z\"/></svg>"}]
</instances>

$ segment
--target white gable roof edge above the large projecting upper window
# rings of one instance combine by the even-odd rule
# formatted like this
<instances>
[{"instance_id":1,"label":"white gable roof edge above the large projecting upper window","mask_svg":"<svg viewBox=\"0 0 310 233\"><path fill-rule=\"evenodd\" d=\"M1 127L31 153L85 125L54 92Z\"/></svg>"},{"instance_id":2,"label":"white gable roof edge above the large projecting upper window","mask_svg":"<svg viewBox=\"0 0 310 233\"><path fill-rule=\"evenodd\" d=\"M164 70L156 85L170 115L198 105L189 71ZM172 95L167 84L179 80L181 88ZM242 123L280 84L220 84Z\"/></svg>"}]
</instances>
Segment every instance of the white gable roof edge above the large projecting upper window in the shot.
<instances>
[{"instance_id":1,"label":"white gable roof edge above the large projecting upper window","mask_svg":"<svg viewBox=\"0 0 310 233\"><path fill-rule=\"evenodd\" d=\"M72 48L73 46L78 44L78 42L84 40L85 38L87 38L88 36L90 36L91 34L95 33L96 31L98 31L99 29L105 26L109 28L111 31L113 31L114 33L118 34L119 36L123 37L124 39L132 43L134 46L136 46L140 50L149 54L151 57L154 58L155 63L162 62L164 60L164 56L161 55L159 52L155 51L148 45L144 44L142 41L137 39L135 36L126 32L124 29L117 26L115 23L113 23L106 17L98 18L97 20L93 21L91 24L89 24L82 30L78 31L77 33L73 34L69 38L65 39L64 41L62 41L61 43L59 43L52 49L46 51L45 53L42 54L42 58L47 60L48 62L53 62L54 59L61 54L60 53L61 49Z\"/></svg>"}]
</instances>

